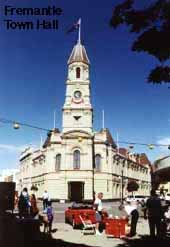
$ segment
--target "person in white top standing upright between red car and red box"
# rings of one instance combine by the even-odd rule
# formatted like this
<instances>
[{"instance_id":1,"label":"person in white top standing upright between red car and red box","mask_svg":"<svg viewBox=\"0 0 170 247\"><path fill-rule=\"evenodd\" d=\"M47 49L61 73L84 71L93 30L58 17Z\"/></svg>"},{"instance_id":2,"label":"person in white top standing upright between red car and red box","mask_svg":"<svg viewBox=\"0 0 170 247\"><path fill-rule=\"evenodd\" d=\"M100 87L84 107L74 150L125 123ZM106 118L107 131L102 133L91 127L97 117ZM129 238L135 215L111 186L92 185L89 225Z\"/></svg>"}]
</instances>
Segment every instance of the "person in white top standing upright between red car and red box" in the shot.
<instances>
[{"instance_id":1,"label":"person in white top standing upright between red car and red box","mask_svg":"<svg viewBox=\"0 0 170 247\"><path fill-rule=\"evenodd\" d=\"M96 235L101 235L99 231L99 225L102 221L102 211L103 211L102 198L103 198L103 193L100 192L98 193L97 198L94 201L94 208L96 210Z\"/></svg>"}]
</instances>

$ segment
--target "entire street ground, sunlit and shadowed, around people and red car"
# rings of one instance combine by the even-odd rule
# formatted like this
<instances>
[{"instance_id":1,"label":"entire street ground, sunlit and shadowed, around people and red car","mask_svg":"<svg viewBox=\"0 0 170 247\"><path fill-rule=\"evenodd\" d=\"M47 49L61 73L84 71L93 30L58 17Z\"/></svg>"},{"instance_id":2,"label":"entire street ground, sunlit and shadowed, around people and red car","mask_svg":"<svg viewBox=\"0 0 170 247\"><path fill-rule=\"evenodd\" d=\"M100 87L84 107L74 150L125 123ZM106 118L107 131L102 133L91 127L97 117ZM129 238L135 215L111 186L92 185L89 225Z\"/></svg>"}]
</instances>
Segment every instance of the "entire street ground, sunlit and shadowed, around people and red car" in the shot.
<instances>
[{"instance_id":1,"label":"entire street ground, sunlit and shadowed, around people and red car","mask_svg":"<svg viewBox=\"0 0 170 247\"><path fill-rule=\"evenodd\" d=\"M103 203L104 208L109 214L116 216L117 208L120 202L107 202ZM164 247L169 247L169 238L168 236L160 239L150 239L149 237L149 225L148 221L143 217L139 217L137 223L137 234L132 237L122 237L114 238L107 236L105 230L101 235L95 235L94 232L86 232L83 234L81 229L73 229L69 224L65 224L64 212L71 206L70 203L53 203L54 210L54 221L52 225L52 233L44 233L44 225L39 228L34 228L33 225L30 228L29 221L27 224L22 224L22 227L17 228L15 222L6 221L3 225L3 236L4 240L0 239L1 246L11 246L12 243L17 243L15 246L32 246L32 247L150 247L151 245ZM42 201L38 201L38 207L40 213L43 212ZM11 223L10 223L11 222ZM13 224L12 224L13 222ZM24 230L23 230L24 227ZM8 229L8 231L4 230ZM19 230L19 231L18 231ZM10 238L9 238L10 236ZM163 237L163 236L162 236Z\"/></svg>"}]
</instances>

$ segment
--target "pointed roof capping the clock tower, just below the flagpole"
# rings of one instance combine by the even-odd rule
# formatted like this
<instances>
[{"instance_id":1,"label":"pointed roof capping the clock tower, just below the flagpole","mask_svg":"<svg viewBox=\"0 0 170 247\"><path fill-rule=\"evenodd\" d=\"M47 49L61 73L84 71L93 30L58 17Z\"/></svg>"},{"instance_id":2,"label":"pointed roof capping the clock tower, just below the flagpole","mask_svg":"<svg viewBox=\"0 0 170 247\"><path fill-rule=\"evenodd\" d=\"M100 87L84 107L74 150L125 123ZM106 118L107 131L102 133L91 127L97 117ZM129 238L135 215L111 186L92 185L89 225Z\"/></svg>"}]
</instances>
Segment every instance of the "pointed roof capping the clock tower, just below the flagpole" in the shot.
<instances>
[{"instance_id":1,"label":"pointed roof capping the clock tower, just below the flagpole","mask_svg":"<svg viewBox=\"0 0 170 247\"><path fill-rule=\"evenodd\" d=\"M86 64L90 64L90 61L88 59L86 49L81 43L77 43L71 52L71 55L68 59L68 64L74 63L74 62L83 62Z\"/></svg>"}]
</instances>

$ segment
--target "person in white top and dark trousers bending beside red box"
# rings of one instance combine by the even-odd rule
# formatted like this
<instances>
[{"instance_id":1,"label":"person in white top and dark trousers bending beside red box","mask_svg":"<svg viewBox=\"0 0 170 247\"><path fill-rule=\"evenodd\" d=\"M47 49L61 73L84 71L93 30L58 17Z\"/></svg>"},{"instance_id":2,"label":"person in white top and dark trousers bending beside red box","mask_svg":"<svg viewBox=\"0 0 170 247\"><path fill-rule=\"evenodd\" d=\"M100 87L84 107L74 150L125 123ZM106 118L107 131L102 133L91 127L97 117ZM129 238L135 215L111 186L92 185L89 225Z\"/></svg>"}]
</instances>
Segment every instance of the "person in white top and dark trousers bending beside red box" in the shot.
<instances>
[{"instance_id":1,"label":"person in white top and dark trousers bending beside red box","mask_svg":"<svg viewBox=\"0 0 170 247\"><path fill-rule=\"evenodd\" d=\"M128 202L124 208L125 208L125 211L126 211L128 217L131 219L130 233L127 236L128 237L134 237L136 235L136 227L137 227L137 223L138 223L138 219L139 219L137 203Z\"/></svg>"}]
</instances>

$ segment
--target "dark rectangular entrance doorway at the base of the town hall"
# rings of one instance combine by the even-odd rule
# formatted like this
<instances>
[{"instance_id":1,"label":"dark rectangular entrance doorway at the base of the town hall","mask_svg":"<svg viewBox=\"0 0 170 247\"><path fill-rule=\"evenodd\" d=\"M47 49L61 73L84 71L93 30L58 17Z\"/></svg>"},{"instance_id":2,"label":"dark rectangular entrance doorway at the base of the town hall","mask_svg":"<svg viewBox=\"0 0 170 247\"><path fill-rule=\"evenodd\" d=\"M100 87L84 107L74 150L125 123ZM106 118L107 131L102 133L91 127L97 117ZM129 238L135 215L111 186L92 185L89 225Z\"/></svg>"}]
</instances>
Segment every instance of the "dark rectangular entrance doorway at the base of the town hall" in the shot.
<instances>
[{"instance_id":1,"label":"dark rectangular entrance doorway at the base of the town hall","mask_svg":"<svg viewBox=\"0 0 170 247\"><path fill-rule=\"evenodd\" d=\"M84 182L69 182L68 197L70 201L82 202L84 199Z\"/></svg>"}]
</instances>

